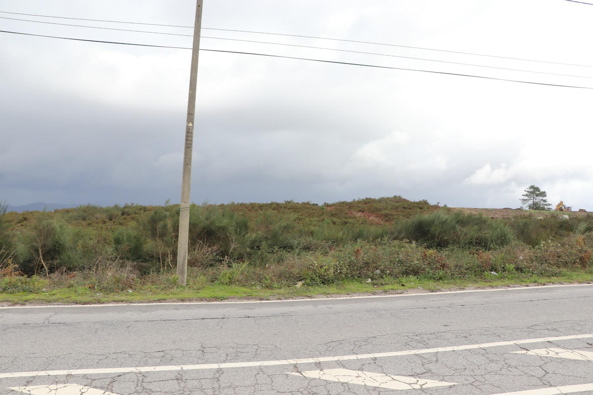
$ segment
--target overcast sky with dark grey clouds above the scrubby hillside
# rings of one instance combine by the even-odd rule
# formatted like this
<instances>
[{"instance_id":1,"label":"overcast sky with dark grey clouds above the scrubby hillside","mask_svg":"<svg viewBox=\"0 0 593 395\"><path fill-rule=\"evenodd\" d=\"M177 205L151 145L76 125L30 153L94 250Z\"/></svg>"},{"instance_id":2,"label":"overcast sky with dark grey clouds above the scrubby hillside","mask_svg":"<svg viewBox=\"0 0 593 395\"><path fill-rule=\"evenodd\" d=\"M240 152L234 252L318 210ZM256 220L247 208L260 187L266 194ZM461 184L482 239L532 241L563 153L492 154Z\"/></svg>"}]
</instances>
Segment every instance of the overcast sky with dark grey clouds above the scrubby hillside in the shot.
<instances>
[{"instance_id":1,"label":"overcast sky with dark grey clouds above the scrubby hillside","mask_svg":"<svg viewBox=\"0 0 593 395\"><path fill-rule=\"evenodd\" d=\"M563 0L205 0L202 26L593 65L593 6ZM192 0L0 0L0 11L193 25ZM137 30L188 28L0 14ZM191 37L0 19L0 30L190 47ZM588 76L202 38L203 49L593 87L593 68L312 38L273 41ZM0 33L0 201L179 201L190 50ZM593 89L200 53L192 201L401 195L519 207L530 184L593 210Z\"/></svg>"}]
</instances>

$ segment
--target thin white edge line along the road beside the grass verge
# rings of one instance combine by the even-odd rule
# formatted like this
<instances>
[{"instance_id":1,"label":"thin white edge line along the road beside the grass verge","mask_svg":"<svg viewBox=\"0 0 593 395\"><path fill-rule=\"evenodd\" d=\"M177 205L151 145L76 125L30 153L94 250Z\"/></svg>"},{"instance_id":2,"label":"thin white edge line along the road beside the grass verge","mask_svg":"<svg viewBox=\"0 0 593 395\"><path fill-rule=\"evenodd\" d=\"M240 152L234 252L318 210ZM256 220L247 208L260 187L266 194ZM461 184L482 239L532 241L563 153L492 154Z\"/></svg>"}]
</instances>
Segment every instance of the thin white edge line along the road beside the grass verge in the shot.
<instances>
[{"instance_id":1,"label":"thin white edge line along the road beside the grass verge","mask_svg":"<svg viewBox=\"0 0 593 395\"><path fill-rule=\"evenodd\" d=\"M65 304L63 306L0 306L0 309L47 309L49 307L111 307L111 306L167 306L168 304L245 304L245 303L279 303L279 302L304 302L304 301L332 301L343 299L369 299L369 298L395 298L408 296L426 296L426 295L445 295L445 294L463 294L469 292L496 292L496 291L521 291L521 290L541 290L541 288L559 288L559 287L591 287L593 284L559 284L559 285L536 285L533 287L512 287L495 288L492 290L463 290L463 291L435 291L423 292L417 294L396 294L396 295L368 295L368 296L342 296L327 298L305 298L305 299L282 299L282 300L243 300L243 301L217 301L217 302L163 302L163 303L104 303L104 304Z\"/></svg>"}]
</instances>

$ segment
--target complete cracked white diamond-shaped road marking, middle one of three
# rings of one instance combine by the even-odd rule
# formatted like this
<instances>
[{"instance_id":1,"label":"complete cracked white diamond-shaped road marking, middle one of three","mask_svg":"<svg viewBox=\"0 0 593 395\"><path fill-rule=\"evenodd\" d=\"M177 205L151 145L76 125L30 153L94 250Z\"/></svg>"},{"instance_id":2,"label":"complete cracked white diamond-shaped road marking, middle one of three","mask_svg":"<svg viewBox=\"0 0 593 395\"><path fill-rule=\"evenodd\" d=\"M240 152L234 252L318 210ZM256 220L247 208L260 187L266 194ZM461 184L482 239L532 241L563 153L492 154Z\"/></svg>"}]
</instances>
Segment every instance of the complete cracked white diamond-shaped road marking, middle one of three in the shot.
<instances>
[{"instance_id":1,"label":"complete cracked white diamond-shaped road marking, middle one of three","mask_svg":"<svg viewBox=\"0 0 593 395\"><path fill-rule=\"evenodd\" d=\"M447 381L392 376L382 373L349 369L309 370L306 372L288 372L288 374L302 375L308 378L320 378L321 380L340 381L341 383L347 384L359 384L361 386L388 388L390 390L410 390L413 388L454 386L457 384L447 383Z\"/></svg>"}]
</instances>

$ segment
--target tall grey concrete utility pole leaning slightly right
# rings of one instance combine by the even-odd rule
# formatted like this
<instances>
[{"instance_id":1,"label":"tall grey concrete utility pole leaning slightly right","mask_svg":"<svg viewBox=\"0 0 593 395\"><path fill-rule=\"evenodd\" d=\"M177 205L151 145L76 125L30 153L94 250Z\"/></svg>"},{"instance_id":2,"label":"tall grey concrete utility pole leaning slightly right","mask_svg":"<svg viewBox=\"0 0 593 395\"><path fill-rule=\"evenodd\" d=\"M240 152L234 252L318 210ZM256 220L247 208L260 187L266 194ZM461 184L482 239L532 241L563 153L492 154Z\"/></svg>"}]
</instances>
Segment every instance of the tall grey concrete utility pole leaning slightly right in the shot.
<instances>
[{"instance_id":1,"label":"tall grey concrete utility pole leaning slightly right","mask_svg":"<svg viewBox=\"0 0 593 395\"><path fill-rule=\"evenodd\" d=\"M196 21L193 27L192 66L189 74L189 97L187 98L186 143L183 152L183 178L181 178L181 207L179 208L179 239L177 240L177 277L179 283L187 284L187 245L189 233L189 199L192 184L193 124L196 110L197 58L200 52L200 29L202 28L203 0L196 1Z\"/></svg>"}]
</instances>

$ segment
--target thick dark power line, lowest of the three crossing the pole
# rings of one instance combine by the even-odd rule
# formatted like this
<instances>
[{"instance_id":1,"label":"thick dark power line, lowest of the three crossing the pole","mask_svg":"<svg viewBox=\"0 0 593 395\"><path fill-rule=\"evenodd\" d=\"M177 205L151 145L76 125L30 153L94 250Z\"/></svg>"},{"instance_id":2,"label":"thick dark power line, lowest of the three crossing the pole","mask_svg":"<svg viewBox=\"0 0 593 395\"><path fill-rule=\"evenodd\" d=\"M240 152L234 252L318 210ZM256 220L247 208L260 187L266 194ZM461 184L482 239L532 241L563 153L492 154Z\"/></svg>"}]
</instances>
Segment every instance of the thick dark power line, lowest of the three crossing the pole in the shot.
<instances>
[{"instance_id":1,"label":"thick dark power line, lowest of the three crossing the pole","mask_svg":"<svg viewBox=\"0 0 593 395\"><path fill-rule=\"evenodd\" d=\"M150 44L120 43L120 42L117 42L117 41L87 40L85 38L43 36L42 34L20 33L18 31L7 31L7 30L0 30L0 33L12 33L12 34L23 34L25 36L60 38L62 40L90 41L92 43L122 44L122 45L132 45L132 46L142 46L142 47L158 47L158 48L192 49L192 48L189 48L189 47L170 47L170 46L150 45ZM460 74L460 73L448 73L448 72L433 71L433 70L404 69L404 68L390 67L390 66L366 65L364 63L337 62L336 60L308 59L308 58L305 58L305 57L280 56L280 55L272 55L272 54L267 54L267 53L239 52L239 51L227 51L227 50L219 50L219 49L202 49L202 48L200 48L200 51L236 53L236 54L245 54L245 55L268 56L268 57L281 57L283 59L310 60L311 62L336 63L338 65L364 66L364 67L379 68L379 69L407 70L407 71L417 71L417 72L424 72L424 73L435 73L435 74L444 74L444 75L457 75L457 76L463 76L463 77L495 79L495 80L498 80L498 81L519 82L521 84L546 85L546 86L562 86L563 88L593 89L593 87L589 87L589 86L546 84L544 82L519 81L519 80L515 80L515 79L495 78L495 77L486 77L486 76L481 76L481 75Z\"/></svg>"}]
</instances>

